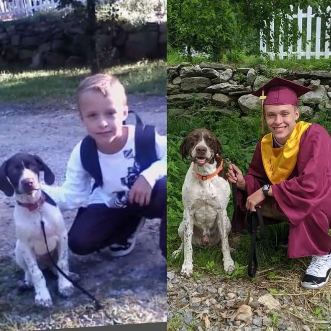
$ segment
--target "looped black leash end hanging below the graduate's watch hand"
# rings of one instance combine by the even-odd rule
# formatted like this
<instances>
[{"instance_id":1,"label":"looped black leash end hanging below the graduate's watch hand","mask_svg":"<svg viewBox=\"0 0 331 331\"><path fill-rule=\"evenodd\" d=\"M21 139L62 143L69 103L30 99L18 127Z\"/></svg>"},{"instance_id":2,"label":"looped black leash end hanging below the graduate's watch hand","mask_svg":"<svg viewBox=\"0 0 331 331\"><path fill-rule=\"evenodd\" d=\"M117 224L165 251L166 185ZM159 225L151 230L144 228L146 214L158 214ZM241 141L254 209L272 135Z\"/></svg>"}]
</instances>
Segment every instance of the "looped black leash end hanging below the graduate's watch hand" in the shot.
<instances>
[{"instance_id":1,"label":"looped black leash end hanging below the graduate's watch hand","mask_svg":"<svg viewBox=\"0 0 331 331\"><path fill-rule=\"evenodd\" d=\"M249 222L250 219L250 222ZM256 257L257 228L260 225L260 239L264 237L264 222L261 208L256 208L256 212L247 211L245 225L251 234L251 249L248 260L247 272L250 277L254 277L258 269L258 259Z\"/></svg>"}]
</instances>

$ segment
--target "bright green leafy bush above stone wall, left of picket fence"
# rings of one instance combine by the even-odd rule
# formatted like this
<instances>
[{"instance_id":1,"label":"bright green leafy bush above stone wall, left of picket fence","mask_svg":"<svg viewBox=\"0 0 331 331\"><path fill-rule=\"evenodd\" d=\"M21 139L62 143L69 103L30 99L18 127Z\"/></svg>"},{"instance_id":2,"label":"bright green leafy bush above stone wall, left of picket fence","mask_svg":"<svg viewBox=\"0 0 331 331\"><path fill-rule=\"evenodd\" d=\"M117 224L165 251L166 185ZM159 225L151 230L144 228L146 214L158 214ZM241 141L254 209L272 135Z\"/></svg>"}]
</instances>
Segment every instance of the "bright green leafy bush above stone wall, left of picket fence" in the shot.
<instances>
[{"instance_id":1,"label":"bright green leafy bush above stone wall, left of picket fence","mask_svg":"<svg viewBox=\"0 0 331 331\"><path fill-rule=\"evenodd\" d=\"M236 44L236 32L240 29L235 4L230 0L168 0L167 5L167 38L171 47L192 47L219 61Z\"/></svg>"}]
</instances>

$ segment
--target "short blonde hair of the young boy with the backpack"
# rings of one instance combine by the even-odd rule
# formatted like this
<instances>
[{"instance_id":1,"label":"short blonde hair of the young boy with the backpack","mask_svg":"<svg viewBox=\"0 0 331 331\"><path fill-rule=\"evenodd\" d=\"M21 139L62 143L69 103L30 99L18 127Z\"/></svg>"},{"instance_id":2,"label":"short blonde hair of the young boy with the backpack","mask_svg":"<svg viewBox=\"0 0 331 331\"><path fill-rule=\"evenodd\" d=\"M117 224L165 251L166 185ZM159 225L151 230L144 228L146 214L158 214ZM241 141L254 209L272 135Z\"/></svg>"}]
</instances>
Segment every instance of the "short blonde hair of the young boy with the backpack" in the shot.
<instances>
[{"instance_id":1,"label":"short blonde hair of the young boy with the backpack","mask_svg":"<svg viewBox=\"0 0 331 331\"><path fill-rule=\"evenodd\" d=\"M117 93L123 94L123 103L127 105L127 95L124 86L119 79L113 75L95 74L83 79L77 89L76 100L79 108L79 98L87 91L94 90L100 92L103 96L110 95L110 89L116 87Z\"/></svg>"}]
</instances>

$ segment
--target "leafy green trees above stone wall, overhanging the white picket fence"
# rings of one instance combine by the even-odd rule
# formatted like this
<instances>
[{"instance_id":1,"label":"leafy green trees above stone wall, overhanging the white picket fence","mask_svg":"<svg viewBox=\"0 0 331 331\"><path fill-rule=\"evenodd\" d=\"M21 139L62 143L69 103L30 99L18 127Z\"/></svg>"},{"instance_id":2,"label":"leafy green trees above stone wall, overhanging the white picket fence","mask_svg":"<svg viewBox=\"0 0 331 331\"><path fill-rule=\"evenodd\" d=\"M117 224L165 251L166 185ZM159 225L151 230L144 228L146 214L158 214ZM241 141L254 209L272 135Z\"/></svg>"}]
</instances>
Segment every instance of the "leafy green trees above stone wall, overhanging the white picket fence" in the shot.
<instances>
[{"instance_id":1,"label":"leafy green trees above stone wall, overhanging the white picket fence","mask_svg":"<svg viewBox=\"0 0 331 331\"><path fill-rule=\"evenodd\" d=\"M257 52L260 30L262 39L270 45L271 39L293 44L300 37L297 23L291 20L291 8L311 6L322 19L322 26L331 18L327 12L329 0L168 0L168 44L172 48L207 51L218 61L230 52L246 49ZM271 33L270 22L275 23ZM283 31L280 30L283 27ZM331 26L328 28L331 35ZM274 48L274 45L271 45Z\"/></svg>"}]
</instances>

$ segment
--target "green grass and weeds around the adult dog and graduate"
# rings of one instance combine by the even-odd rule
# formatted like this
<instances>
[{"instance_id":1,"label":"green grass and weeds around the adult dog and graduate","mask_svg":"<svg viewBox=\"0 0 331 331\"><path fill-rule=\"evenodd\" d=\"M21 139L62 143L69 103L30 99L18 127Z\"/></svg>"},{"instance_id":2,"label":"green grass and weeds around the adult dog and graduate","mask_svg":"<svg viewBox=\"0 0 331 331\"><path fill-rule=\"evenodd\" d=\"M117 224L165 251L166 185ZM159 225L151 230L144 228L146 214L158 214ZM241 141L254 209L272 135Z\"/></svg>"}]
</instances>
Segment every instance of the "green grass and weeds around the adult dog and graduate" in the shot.
<instances>
[{"instance_id":1,"label":"green grass and weeds around the adult dog and graduate","mask_svg":"<svg viewBox=\"0 0 331 331\"><path fill-rule=\"evenodd\" d=\"M192 129L206 127L213 131L223 144L223 157L237 164L245 174L252 159L258 137L261 133L260 115L253 113L245 120L240 118L239 111L233 110L232 114L224 114L210 108L210 111L192 109L194 116L183 113L183 110L168 109L167 128L167 162L168 162L168 204L167 204L167 265L180 270L183 256L180 254L175 260L172 252L180 245L177 234L178 226L182 220L183 205L181 201L181 187L189 167L189 160L182 160L179 145L182 138ZM300 120L308 120L300 117ZM331 119L326 111L321 111L318 120L328 132L331 132ZM232 199L228 206L228 216L233 214ZM265 237L257 242L258 271L268 270L266 277L275 279L281 271L291 270L294 266L304 271L303 263L309 259L287 259L286 249L281 248L282 239L286 234L286 224L268 226ZM246 277L246 266L249 256L250 236L243 235L232 257L237 263L237 270L231 276L233 279ZM198 249L193 248L193 270L196 273L224 275L222 252L219 248Z\"/></svg>"}]
</instances>

